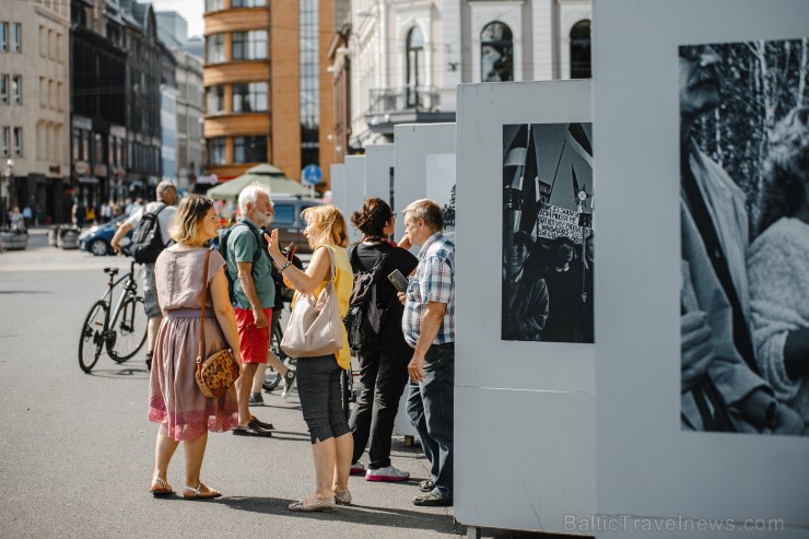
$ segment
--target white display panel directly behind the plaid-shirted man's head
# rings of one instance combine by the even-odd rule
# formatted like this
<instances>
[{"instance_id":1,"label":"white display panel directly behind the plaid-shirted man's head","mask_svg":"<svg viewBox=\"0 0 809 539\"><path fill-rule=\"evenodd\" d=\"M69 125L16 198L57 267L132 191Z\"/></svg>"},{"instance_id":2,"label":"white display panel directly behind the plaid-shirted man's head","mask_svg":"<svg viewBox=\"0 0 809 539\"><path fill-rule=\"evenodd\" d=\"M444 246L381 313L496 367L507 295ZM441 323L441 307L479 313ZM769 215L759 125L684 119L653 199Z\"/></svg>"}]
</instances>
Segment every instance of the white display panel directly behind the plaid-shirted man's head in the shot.
<instances>
[{"instance_id":1,"label":"white display panel directly behind the plaid-shirted man's head","mask_svg":"<svg viewBox=\"0 0 809 539\"><path fill-rule=\"evenodd\" d=\"M455 153L455 124L402 124L394 127L395 197L401 210L410 202L427 196L430 154ZM404 220L396 220L395 238L404 235Z\"/></svg>"}]
</instances>

